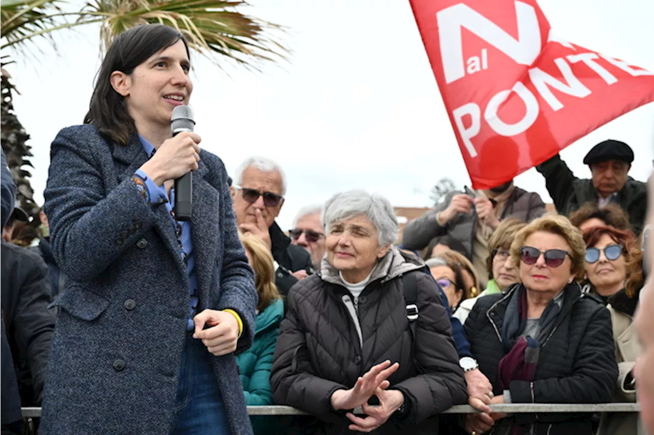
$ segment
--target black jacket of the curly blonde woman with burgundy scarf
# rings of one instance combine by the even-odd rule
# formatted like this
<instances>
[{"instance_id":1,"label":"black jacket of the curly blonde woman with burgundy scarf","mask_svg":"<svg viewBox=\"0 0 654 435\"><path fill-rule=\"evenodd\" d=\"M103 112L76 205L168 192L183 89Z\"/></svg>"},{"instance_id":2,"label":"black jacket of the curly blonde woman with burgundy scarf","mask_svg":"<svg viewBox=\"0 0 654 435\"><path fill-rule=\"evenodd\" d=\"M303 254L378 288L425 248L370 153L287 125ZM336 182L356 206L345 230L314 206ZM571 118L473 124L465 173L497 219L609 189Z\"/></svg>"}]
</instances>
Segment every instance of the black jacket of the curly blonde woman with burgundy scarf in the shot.
<instances>
[{"instance_id":1,"label":"black jacket of the curly blonde woman with burgundy scarf","mask_svg":"<svg viewBox=\"0 0 654 435\"><path fill-rule=\"evenodd\" d=\"M489 378L494 395L502 395L498 365L504 357L500 333L513 291L479 298L466 335L479 369ZM577 284L566 286L555 330L540 350L535 380L512 381L513 403L594 404L611 402L618 370L611 316L602 302L582 295ZM591 414L515 414L519 424L534 423L534 435L591 435ZM491 432L492 433L492 432Z\"/></svg>"}]
</instances>

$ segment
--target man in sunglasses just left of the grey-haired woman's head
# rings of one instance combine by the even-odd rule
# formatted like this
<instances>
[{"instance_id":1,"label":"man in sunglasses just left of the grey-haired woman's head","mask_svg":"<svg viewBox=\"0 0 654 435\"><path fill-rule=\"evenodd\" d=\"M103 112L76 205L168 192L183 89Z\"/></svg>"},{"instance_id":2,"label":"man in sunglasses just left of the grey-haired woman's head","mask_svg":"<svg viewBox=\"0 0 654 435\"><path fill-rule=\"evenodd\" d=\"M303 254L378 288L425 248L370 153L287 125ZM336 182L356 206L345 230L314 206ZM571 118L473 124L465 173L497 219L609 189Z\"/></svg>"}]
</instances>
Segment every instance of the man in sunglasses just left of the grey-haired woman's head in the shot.
<instances>
[{"instance_id":1,"label":"man in sunglasses just left of the grey-haired woman's head","mask_svg":"<svg viewBox=\"0 0 654 435\"><path fill-rule=\"evenodd\" d=\"M311 205L301 208L288 235L292 244L300 246L311 255L314 270L320 270L320 261L327 250L322 225L322 206Z\"/></svg>"}]
</instances>

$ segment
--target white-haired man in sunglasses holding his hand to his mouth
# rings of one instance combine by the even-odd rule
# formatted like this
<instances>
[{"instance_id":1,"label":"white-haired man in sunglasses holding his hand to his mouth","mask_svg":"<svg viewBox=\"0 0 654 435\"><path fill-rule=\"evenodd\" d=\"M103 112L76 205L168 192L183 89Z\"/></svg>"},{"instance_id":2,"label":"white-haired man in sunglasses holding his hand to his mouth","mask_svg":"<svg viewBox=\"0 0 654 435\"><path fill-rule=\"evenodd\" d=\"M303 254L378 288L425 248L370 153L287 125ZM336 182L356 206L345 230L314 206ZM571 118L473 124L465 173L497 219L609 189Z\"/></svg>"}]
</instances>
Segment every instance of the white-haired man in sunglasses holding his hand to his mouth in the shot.
<instances>
[{"instance_id":1,"label":"white-haired man in sunglasses holding his hand to his mouth","mask_svg":"<svg viewBox=\"0 0 654 435\"><path fill-rule=\"evenodd\" d=\"M284 205L286 177L281 167L266 157L246 159L233 178L233 210L239 231L258 236L275 259L275 284L288 294L298 280L313 273L311 255L291 240L275 223Z\"/></svg>"}]
</instances>

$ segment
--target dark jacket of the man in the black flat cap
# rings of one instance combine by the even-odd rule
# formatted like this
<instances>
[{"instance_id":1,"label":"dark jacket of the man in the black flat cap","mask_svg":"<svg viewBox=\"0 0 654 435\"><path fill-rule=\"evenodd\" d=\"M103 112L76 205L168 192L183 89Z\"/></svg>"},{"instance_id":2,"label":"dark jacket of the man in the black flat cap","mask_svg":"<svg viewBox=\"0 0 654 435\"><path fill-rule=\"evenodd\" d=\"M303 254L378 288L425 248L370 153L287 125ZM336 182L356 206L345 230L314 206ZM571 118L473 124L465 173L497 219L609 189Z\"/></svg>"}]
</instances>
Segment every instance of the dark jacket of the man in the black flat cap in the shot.
<instances>
[{"instance_id":1,"label":"dark jacket of the man in the black flat cap","mask_svg":"<svg viewBox=\"0 0 654 435\"><path fill-rule=\"evenodd\" d=\"M545 177L545 186L559 214L570 216L585 202L598 202L593 180L581 180L574 176L559 154L538 165L536 170ZM647 184L628 177L625 187L617 193L613 202L628 213L634 233L640 234L647 217Z\"/></svg>"}]
</instances>

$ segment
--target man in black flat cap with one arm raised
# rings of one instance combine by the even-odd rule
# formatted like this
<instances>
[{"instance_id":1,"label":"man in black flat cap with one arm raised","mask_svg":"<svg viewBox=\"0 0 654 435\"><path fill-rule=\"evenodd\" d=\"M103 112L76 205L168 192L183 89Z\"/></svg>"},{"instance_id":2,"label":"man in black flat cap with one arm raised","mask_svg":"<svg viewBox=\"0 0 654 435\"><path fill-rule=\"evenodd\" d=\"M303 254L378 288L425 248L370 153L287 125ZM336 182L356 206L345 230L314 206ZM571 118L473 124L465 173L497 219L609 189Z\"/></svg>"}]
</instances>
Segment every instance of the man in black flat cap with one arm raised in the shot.
<instances>
[{"instance_id":1,"label":"man in black flat cap with one arm raised","mask_svg":"<svg viewBox=\"0 0 654 435\"><path fill-rule=\"evenodd\" d=\"M647 184L628 176L634 152L619 140L604 140L583 159L591 168L591 180L574 176L568 165L555 155L536 170L545 176L549 196L559 214L569 216L585 202L600 208L615 202L629 215L634 233L640 234L647 215Z\"/></svg>"}]
</instances>

